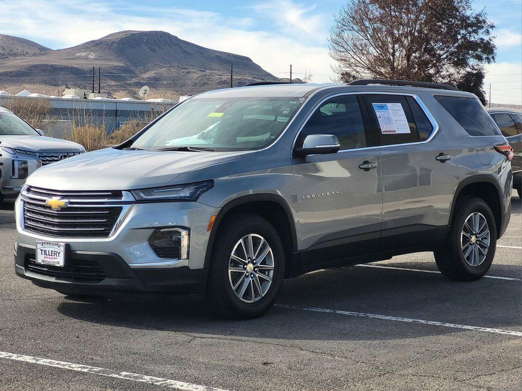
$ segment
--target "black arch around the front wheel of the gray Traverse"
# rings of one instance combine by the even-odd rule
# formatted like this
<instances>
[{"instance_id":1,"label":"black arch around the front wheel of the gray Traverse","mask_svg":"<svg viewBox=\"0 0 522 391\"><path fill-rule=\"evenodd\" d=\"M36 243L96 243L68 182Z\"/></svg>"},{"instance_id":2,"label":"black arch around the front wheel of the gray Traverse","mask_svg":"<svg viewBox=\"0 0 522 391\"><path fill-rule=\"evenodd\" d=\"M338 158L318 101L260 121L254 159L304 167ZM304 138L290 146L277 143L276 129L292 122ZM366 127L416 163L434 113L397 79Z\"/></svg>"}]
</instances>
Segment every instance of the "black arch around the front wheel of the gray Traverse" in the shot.
<instances>
[{"instance_id":1,"label":"black arch around the front wheel of the gray Traverse","mask_svg":"<svg viewBox=\"0 0 522 391\"><path fill-rule=\"evenodd\" d=\"M276 208L276 210L274 210L274 208ZM283 212L283 214L277 213L277 209L279 209L279 212ZM266 218L272 225L274 225L283 243L285 257L287 259L287 270L285 275L288 275L292 253L298 249L294 217L290 206L284 198L277 194L268 193L249 194L247 196L238 197L228 202L220 209L210 231L207 251L205 253L204 267L206 268L210 265L213 245L221 222L226 216L234 212L253 213ZM290 231L290 236L288 235L288 230Z\"/></svg>"}]
</instances>

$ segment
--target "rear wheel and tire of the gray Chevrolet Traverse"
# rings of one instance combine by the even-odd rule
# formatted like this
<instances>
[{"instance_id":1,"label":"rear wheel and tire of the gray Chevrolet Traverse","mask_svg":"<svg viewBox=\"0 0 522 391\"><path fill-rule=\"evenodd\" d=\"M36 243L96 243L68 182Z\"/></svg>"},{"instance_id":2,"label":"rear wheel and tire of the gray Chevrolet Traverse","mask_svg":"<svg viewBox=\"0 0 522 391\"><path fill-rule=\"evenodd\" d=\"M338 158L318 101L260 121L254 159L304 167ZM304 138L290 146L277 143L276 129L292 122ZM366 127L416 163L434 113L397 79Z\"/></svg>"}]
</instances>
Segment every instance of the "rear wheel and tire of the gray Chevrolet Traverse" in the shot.
<instances>
[{"instance_id":1,"label":"rear wheel and tire of the gray Chevrolet Traverse","mask_svg":"<svg viewBox=\"0 0 522 391\"><path fill-rule=\"evenodd\" d=\"M473 221L468 220L472 215L478 216L479 226L482 226L485 220L485 222L487 222L487 228L489 228L489 247L487 251L485 251L485 256L481 249L485 249L484 241L487 240L488 235L484 236L482 238L483 240L477 240L477 237L483 235L485 231L484 228L482 228L482 230L479 229L478 235L468 234L470 228L473 228ZM465 222L470 223L468 224L470 228L465 227ZM463 232L469 235L469 239L463 235ZM473 238L476 241L473 241ZM473 249L473 245L476 245L478 248L477 252ZM463 246L466 246L466 248L462 249ZM457 203L446 242L443 248L434 253L435 262L437 263L438 270L449 279L456 281L474 281L488 272L495 256L495 250L496 225L491 208L482 199L471 197ZM470 253L465 258L465 254L468 253L468 251L470 251Z\"/></svg>"}]
</instances>

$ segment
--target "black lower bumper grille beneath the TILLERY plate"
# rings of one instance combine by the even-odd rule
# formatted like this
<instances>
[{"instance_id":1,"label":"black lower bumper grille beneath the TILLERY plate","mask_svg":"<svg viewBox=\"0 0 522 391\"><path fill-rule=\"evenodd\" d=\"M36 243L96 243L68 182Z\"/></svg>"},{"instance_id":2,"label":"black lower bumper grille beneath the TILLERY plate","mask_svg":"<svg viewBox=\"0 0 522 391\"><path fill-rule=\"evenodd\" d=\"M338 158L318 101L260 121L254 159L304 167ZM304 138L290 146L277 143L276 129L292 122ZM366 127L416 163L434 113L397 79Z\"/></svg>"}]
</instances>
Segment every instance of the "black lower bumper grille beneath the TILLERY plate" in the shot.
<instances>
[{"instance_id":1,"label":"black lower bumper grille beneath the TILLERY plate","mask_svg":"<svg viewBox=\"0 0 522 391\"><path fill-rule=\"evenodd\" d=\"M69 268L64 268L58 266L41 265L36 263L34 258L29 258L26 263L26 268L33 273L57 278L82 281L92 280L97 282L105 279L105 273L96 261L73 260L72 265L70 265Z\"/></svg>"}]
</instances>

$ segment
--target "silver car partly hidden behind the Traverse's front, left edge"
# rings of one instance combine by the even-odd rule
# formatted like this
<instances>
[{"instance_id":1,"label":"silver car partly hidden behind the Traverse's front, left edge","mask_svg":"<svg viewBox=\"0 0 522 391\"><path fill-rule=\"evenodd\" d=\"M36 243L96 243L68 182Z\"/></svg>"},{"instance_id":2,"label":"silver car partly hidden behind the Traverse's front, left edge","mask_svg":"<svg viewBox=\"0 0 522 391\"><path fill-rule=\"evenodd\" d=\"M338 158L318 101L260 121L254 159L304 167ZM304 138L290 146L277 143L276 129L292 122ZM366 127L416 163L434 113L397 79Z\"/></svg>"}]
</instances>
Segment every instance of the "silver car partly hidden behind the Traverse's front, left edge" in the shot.
<instances>
[{"instance_id":1,"label":"silver car partly hidden behind the Traverse's front, left edge","mask_svg":"<svg viewBox=\"0 0 522 391\"><path fill-rule=\"evenodd\" d=\"M18 196L35 169L81 153L85 153L82 145L45 137L43 131L0 107L0 202Z\"/></svg>"}]
</instances>

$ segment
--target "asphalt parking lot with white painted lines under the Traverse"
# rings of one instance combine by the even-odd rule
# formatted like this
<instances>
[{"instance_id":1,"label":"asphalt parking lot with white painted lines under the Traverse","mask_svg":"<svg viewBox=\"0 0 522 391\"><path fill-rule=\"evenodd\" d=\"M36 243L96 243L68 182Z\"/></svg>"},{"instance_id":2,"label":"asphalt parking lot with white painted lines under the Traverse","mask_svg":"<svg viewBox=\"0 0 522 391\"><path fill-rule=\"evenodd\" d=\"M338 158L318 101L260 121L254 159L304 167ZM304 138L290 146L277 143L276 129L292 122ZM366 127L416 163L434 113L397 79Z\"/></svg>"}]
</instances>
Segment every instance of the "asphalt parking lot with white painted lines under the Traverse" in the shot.
<instances>
[{"instance_id":1,"label":"asphalt parking lot with white painted lines under the Traverse","mask_svg":"<svg viewBox=\"0 0 522 391\"><path fill-rule=\"evenodd\" d=\"M516 196L488 278L450 282L431 253L397 256L287 280L277 307L241 322L191 297L85 302L34 286L14 274L12 208L0 211L2 390L522 386Z\"/></svg>"}]
</instances>

